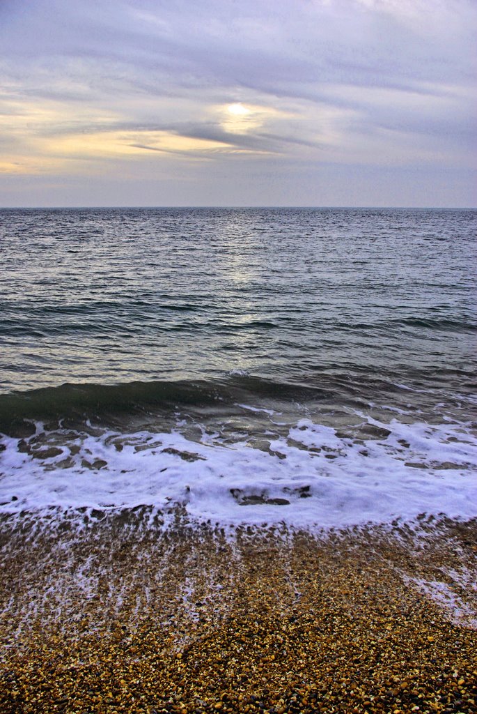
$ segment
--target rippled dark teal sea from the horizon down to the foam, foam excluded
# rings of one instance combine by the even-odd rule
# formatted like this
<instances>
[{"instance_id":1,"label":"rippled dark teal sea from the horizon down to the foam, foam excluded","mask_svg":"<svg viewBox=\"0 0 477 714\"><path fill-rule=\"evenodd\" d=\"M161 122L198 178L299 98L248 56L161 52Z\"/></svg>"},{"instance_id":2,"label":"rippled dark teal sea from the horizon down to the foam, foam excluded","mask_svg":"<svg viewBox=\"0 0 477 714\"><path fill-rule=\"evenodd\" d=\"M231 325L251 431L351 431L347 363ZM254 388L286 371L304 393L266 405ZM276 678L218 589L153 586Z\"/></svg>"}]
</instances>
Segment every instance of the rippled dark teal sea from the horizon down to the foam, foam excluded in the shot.
<instances>
[{"instance_id":1,"label":"rippled dark teal sea from the horizon down to the foam, foam excluded","mask_svg":"<svg viewBox=\"0 0 477 714\"><path fill-rule=\"evenodd\" d=\"M0 211L0 413L9 393L64 383L120 385L76 388L83 411L465 409L476 224L470 210ZM15 403L38 416L68 401L63 388Z\"/></svg>"}]
</instances>

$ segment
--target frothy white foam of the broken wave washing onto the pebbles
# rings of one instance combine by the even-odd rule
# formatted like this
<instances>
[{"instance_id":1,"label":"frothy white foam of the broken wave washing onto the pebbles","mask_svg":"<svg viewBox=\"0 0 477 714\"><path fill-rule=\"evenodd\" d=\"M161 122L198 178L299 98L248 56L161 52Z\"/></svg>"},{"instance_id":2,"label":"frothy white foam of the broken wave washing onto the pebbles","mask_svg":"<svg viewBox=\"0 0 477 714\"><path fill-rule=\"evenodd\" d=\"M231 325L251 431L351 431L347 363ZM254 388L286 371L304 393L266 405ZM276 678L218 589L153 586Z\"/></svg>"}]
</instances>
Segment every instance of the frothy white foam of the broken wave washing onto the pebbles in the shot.
<instances>
[{"instance_id":1,"label":"frothy white foam of the broken wave washing onto the pebbles","mask_svg":"<svg viewBox=\"0 0 477 714\"><path fill-rule=\"evenodd\" d=\"M391 433L359 441L304 419L260 451L205 432L200 442L178 431L75 438L57 432L47 435L45 446L59 445L63 453L43 460L20 453L18 442L4 437L0 512L183 503L198 521L301 528L386 523L420 513L477 516L477 440L465 426L368 421ZM79 452L71 454L75 446ZM56 468L68 456L69 468Z\"/></svg>"}]
</instances>

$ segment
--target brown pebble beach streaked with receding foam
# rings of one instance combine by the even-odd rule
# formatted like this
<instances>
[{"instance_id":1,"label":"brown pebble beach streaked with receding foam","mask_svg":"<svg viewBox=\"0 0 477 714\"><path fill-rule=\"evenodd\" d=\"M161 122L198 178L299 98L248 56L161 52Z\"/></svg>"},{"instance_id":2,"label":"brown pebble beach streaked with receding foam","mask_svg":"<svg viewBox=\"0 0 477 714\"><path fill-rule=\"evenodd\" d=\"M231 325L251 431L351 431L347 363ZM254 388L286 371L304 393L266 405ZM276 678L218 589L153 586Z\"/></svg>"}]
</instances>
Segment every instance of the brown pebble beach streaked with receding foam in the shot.
<instances>
[{"instance_id":1,"label":"brown pebble beach streaked with receding foam","mask_svg":"<svg viewBox=\"0 0 477 714\"><path fill-rule=\"evenodd\" d=\"M146 511L1 521L2 714L477 710L475 519L227 538Z\"/></svg>"}]
</instances>

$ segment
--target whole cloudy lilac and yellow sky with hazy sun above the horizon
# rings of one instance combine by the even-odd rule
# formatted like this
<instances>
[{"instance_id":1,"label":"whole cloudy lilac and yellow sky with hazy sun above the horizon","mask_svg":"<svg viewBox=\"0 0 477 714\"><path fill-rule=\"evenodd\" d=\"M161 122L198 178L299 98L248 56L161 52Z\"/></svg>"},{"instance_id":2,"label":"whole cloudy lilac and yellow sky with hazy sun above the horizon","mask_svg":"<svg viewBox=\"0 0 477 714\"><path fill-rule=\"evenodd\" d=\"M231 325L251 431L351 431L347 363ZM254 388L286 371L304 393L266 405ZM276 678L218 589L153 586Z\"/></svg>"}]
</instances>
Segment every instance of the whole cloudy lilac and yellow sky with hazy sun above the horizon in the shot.
<instances>
[{"instance_id":1,"label":"whole cloudy lilac and yellow sky with hazy sun above the horizon","mask_svg":"<svg viewBox=\"0 0 477 714\"><path fill-rule=\"evenodd\" d=\"M0 0L0 206L476 206L476 37L476 0Z\"/></svg>"}]
</instances>

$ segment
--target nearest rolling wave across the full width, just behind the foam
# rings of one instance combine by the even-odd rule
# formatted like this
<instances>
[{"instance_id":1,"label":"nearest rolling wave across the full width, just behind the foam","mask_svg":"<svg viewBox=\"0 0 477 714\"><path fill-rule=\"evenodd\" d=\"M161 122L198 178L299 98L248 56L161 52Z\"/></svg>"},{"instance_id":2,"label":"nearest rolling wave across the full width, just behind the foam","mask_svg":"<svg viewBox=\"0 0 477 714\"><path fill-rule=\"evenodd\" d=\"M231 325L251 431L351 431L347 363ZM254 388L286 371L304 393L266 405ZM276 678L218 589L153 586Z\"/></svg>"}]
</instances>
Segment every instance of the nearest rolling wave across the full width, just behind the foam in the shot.
<instances>
[{"instance_id":1,"label":"nearest rolling wave across the full width, just behind the foam","mask_svg":"<svg viewBox=\"0 0 477 714\"><path fill-rule=\"evenodd\" d=\"M359 366L342 371L338 365L327 370L310 368L306 374L297 372L288 379L235 369L209 379L63 383L0 394L0 432L32 433L34 422L61 420L116 426L118 419L135 418L137 423L138 417L143 423L155 418L164 422L175 413L200 415L200 421L207 422L216 417L235 418L243 413L244 404L257 414L286 412L291 421L304 413L318 418L327 413L331 420L334 414L339 420L346 413L357 409L369 412L370 408L379 408L380 418L384 411L422 414L426 409L433 421L439 414L445 420L454 403L459 410L461 403L468 401L475 384L473 371L445 369L430 377L426 371L415 370L407 380L401 376L398 382L391 371ZM458 411L454 414L466 418L458 416Z\"/></svg>"}]
</instances>

